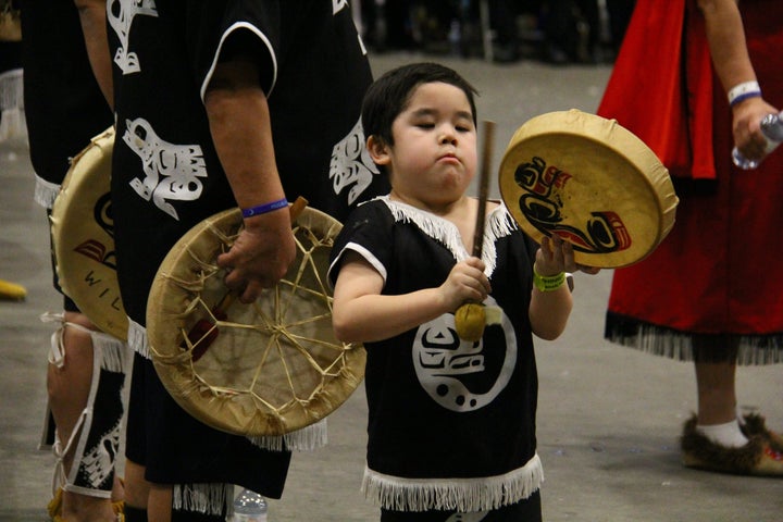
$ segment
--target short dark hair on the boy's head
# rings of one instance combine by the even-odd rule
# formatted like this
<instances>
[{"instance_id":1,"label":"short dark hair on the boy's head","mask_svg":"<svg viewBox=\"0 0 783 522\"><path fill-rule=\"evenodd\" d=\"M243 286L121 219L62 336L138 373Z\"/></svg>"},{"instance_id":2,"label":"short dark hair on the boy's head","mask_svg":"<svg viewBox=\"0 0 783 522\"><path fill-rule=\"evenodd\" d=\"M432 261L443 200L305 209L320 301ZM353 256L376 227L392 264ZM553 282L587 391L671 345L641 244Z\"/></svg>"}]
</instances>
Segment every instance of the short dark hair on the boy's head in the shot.
<instances>
[{"instance_id":1,"label":"short dark hair on the boy's head","mask_svg":"<svg viewBox=\"0 0 783 522\"><path fill-rule=\"evenodd\" d=\"M478 91L456 71L438 63L422 62L402 65L385 73L368 89L362 103L364 136L375 136L387 145L394 145L391 124L406 109L413 90L422 84L444 83L462 89L468 97L476 122L473 95Z\"/></svg>"}]
</instances>

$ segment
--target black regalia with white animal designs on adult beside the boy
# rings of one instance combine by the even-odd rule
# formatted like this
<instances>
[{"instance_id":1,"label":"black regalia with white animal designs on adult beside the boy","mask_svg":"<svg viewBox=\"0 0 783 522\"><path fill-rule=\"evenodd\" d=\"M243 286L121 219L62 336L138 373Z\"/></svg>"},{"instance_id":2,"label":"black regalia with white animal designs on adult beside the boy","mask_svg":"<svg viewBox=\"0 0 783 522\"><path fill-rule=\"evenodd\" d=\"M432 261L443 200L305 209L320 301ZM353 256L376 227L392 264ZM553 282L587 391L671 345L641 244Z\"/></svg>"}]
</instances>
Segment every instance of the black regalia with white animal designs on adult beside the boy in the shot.
<instances>
[{"instance_id":1,"label":"black regalia with white animal designs on adult beside the boy","mask_svg":"<svg viewBox=\"0 0 783 522\"><path fill-rule=\"evenodd\" d=\"M363 147L360 109L372 75L347 0L114 0L107 13L117 273L130 319L128 343L149 357L147 298L159 264L194 225L236 207L203 104L219 61L236 54L254 60L289 200L303 196L341 221L388 184ZM147 374L157 381L149 361ZM287 452L253 460L247 439L208 428L162 386L157 393L160 401L152 408L147 401L146 422L157 424L154 439L162 443L146 448L149 480L233 482L279 497ZM132 398L129 424L138 421L133 409Z\"/></svg>"}]
</instances>

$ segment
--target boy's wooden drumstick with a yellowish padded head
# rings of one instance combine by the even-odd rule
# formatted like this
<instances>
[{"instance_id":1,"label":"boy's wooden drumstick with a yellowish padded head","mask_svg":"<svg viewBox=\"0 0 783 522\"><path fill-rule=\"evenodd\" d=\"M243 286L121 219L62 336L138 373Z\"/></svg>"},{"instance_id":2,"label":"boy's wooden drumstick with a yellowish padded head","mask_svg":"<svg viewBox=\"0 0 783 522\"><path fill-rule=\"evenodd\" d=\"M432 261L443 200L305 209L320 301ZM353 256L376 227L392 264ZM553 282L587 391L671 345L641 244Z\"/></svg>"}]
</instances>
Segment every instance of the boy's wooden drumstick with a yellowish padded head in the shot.
<instances>
[{"instance_id":1,"label":"boy's wooden drumstick with a yellowish padded head","mask_svg":"<svg viewBox=\"0 0 783 522\"><path fill-rule=\"evenodd\" d=\"M486 203L489 192L489 170L492 164L493 140L495 137L495 122L484 122L484 148L482 150L482 165L478 172L478 211L476 213L475 231L473 233L473 256L481 259L484 251L484 226L486 222ZM461 339L471 343L478 341L484 335L486 312L478 302L465 302L455 312L455 326Z\"/></svg>"}]
</instances>

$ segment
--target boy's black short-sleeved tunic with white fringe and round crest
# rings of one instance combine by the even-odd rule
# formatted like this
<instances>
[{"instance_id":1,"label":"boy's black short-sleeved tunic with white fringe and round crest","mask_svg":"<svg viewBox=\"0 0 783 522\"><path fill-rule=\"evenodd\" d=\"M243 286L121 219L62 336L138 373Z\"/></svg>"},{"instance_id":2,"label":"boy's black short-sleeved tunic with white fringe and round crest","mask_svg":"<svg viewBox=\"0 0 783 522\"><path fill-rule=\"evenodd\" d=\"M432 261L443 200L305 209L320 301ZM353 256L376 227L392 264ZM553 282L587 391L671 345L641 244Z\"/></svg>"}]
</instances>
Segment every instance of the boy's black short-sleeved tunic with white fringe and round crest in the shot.
<instances>
[{"instance_id":1,"label":"boy's black short-sleeved tunic with white fringe and round crest","mask_svg":"<svg viewBox=\"0 0 783 522\"><path fill-rule=\"evenodd\" d=\"M369 443L363 489L396 511L485 511L537 492L537 376L527 310L537 246L505 207L487 216L484 262L502 311L478 343L460 340L452 313L366 343ZM359 207L332 252L384 278L384 295L440 286L469 257L449 221L381 197Z\"/></svg>"}]
</instances>

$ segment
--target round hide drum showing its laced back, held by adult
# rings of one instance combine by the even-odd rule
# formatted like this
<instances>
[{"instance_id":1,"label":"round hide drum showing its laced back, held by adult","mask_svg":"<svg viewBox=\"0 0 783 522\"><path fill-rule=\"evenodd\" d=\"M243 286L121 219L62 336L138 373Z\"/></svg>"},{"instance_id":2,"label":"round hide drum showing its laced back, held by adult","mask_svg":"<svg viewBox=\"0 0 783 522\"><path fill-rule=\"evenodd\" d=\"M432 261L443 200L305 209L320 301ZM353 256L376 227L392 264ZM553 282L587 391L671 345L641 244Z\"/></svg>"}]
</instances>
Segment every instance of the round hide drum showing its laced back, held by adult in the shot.
<instances>
[{"instance_id":1,"label":"round hide drum showing its laced back, held by adult","mask_svg":"<svg viewBox=\"0 0 783 522\"><path fill-rule=\"evenodd\" d=\"M326 270L341 224L306 208L294 223L288 273L257 301L225 304L216 258L241 224L239 209L217 213L165 257L147 307L150 355L165 388L196 419L237 435L284 435L325 418L364 377L363 346L337 340L332 328Z\"/></svg>"}]
</instances>

